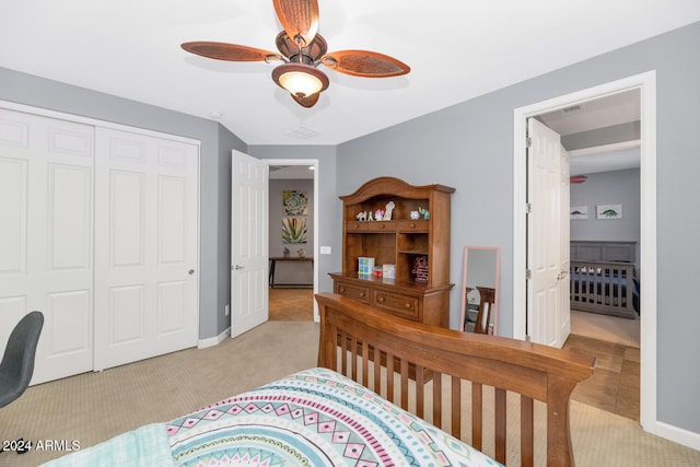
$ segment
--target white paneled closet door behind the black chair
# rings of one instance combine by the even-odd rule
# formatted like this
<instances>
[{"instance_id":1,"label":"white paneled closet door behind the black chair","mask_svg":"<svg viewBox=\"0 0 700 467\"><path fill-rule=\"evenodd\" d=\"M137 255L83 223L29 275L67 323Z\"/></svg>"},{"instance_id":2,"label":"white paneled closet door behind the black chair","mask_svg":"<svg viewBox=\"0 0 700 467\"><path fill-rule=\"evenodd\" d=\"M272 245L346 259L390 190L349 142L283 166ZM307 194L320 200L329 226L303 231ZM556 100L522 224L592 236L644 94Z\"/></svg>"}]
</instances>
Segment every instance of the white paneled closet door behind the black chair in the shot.
<instances>
[{"instance_id":1,"label":"white paneled closet door behind the black chair","mask_svg":"<svg viewBox=\"0 0 700 467\"><path fill-rule=\"evenodd\" d=\"M44 313L33 384L92 370L93 137L0 109L0 349Z\"/></svg>"}]
</instances>

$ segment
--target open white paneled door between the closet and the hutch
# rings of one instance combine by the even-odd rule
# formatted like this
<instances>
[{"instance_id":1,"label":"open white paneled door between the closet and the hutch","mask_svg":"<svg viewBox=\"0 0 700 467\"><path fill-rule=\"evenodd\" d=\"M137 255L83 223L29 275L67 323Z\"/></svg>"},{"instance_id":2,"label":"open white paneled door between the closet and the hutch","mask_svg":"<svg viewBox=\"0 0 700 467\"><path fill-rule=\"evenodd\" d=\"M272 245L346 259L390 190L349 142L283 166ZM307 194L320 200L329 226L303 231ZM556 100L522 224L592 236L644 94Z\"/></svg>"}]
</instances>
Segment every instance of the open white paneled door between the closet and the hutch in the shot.
<instances>
[{"instance_id":1,"label":"open white paneled door between the closet and the hutch","mask_svg":"<svg viewBox=\"0 0 700 467\"><path fill-rule=\"evenodd\" d=\"M231 337L269 318L268 164L233 151Z\"/></svg>"}]
</instances>

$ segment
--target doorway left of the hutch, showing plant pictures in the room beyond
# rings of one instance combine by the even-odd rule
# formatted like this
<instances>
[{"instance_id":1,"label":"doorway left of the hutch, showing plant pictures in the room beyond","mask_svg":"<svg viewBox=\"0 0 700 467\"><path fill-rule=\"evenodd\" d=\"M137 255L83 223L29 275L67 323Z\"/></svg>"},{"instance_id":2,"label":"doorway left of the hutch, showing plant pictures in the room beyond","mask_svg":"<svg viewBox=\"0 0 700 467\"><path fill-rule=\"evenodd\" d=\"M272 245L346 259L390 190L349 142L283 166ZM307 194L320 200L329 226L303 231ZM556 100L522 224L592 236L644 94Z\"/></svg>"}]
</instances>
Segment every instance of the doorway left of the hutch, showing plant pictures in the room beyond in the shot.
<instances>
[{"instance_id":1,"label":"doorway left of the hutch, showing plant pictures in the room beyond","mask_svg":"<svg viewBox=\"0 0 700 467\"><path fill-rule=\"evenodd\" d=\"M270 320L319 320L317 160L269 159ZM300 205L305 205L300 209Z\"/></svg>"}]
</instances>

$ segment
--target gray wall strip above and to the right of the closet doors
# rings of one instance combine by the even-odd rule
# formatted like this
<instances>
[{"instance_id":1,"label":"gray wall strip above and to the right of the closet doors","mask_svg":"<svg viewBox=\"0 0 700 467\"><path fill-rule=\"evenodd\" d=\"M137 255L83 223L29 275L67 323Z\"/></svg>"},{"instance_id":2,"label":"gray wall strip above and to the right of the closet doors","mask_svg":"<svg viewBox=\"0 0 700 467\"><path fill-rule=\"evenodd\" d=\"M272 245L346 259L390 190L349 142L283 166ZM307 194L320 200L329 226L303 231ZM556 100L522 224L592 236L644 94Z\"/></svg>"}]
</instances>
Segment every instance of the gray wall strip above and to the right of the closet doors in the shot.
<instances>
[{"instance_id":1,"label":"gray wall strip above and to the right of the closet doors","mask_svg":"<svg viewBox=\"0 0 700 467\"><path fill-rule=\"evenodd\" d=\"M246 145L218 122L0 68L0 100L192 138L200 145L199 337L228 327L231 150ZM228 168L226 168L228 167ZM226 183L229 185L226 185ZM228 219L228 220L226 220ZM228 229L228 230L226 230ZM229 255L230 256L230 255ZM224 265L225 262L225 265ZM225 269L225 270L224 270Z\"/></svg>"}]
</instances>

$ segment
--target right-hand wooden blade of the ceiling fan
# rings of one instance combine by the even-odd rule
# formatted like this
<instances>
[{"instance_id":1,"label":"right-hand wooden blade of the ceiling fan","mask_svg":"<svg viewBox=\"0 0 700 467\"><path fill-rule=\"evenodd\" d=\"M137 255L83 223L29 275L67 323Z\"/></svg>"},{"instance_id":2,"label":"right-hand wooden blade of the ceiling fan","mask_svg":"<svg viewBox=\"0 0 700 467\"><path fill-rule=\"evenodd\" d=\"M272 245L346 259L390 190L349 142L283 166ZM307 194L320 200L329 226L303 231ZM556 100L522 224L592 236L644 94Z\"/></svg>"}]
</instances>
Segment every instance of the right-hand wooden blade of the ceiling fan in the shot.
<instances>
[{"instance_id":1,"label":"right-hand wooden blade of the ceiling fan","mask_svg":"<svg viewBox=\"0 0 700 467\"><path fill-rule=\"evenodd\" d=\"M368 50L340 50L320 58L326 67L341 73L365 78L388 78L406 74L410 67L388 55Z\"/></svg>"}]
</instances>

